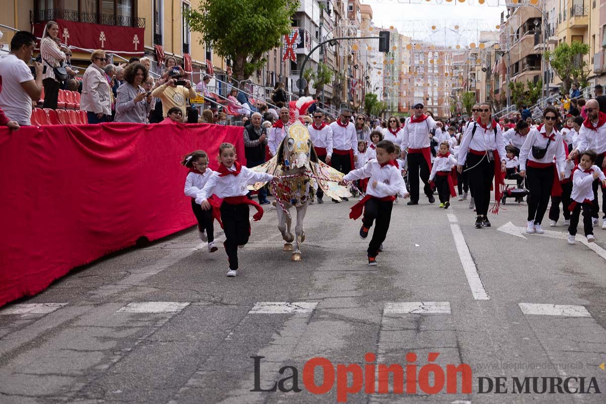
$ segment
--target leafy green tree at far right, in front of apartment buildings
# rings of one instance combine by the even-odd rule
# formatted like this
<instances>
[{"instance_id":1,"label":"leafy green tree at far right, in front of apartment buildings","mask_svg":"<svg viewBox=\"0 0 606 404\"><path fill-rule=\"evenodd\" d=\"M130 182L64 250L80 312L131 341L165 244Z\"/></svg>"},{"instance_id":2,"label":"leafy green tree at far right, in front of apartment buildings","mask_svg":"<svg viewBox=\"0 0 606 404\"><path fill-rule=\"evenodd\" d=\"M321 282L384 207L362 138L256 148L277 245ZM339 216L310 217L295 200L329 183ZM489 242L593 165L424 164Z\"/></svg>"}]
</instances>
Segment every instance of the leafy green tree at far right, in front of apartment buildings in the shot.
<instances>
[{"instance_id":1,"label":"leafy green tree at far right, in front of apartment buildings","mask_svg":"<svg viewBox=\"0 0 606 404\"><path fill-rule=\"evenodd\" d=\"M587 81L589 69L583 56L588 53L589 45L579 41L573 41L570 45L562 42L553 51L545 51L545 58L562 80L564 93L568 93L573 80Z\"/></svg>"}]
</instances>

